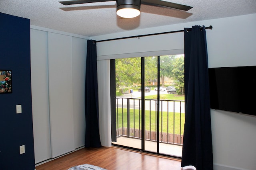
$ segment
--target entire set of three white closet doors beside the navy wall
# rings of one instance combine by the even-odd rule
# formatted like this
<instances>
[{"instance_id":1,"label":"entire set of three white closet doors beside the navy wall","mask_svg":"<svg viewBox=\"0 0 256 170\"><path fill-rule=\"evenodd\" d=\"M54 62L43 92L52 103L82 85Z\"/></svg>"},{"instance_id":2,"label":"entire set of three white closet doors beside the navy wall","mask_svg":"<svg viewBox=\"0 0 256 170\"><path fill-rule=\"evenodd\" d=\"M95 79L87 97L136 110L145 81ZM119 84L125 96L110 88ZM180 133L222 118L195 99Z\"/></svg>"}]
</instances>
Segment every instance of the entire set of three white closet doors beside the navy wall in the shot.
<instances>
[{"instance_id":1,"label":"entire set of three white closet doors beside the navy wall","mask_svg":"<svg viewBox=\"0 0 256 170\"><path fill-rule=\"evenodd\" d=\"M31 25L35 162L84 146L89 37Z\"/></svg>"}]
</instances>

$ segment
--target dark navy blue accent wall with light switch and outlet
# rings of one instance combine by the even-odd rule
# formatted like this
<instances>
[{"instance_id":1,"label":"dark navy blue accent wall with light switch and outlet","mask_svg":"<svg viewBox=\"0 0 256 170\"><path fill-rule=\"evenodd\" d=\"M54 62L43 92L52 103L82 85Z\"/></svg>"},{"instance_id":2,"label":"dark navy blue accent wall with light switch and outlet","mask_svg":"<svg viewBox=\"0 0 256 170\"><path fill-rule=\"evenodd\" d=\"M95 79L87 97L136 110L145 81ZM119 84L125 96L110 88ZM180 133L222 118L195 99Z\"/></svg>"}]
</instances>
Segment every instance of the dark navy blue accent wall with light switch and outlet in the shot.
<instances>
[{"instance_id":1,"label":"dark navy blue accent wall with light switch and outlet","mask_svg":"<svg viewBox=\"0 0 256 170\"><path fill-rule=\"evenodd\" d=\"M1 69L12 70L12 94L0 94L0 169L34 170L29 19L0 13Z\"/></svg>"}]
</instances>

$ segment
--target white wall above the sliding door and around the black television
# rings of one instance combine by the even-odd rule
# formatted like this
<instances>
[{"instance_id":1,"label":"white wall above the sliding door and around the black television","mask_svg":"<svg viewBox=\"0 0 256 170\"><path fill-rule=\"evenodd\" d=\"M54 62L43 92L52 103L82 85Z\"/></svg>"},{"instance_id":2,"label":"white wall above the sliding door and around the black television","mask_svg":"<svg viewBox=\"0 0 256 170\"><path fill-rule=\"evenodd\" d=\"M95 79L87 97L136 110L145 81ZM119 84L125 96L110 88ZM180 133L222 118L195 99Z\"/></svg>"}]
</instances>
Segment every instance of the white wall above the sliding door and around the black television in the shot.
<instances>
[{"instance_id":1,"label":"white wall above the sliding door and around the black television","mask_svg":"<svg viewBox=\"0 0 256 170\"><path fill-rule=\"evenodd\" d=\"M182 30L212 25L206 30L209 67L256 65L256 14L205 20L92 37L94 40ZM184 34L172 33L97 43L98 60L179 54ZM100 84L99 84L100 86ZM241 84L246 89L246 84ZM110 98L108 98L110 100ZM256 169L256 117L211 110L214 170Z\"/></svg>"}]
</instances>

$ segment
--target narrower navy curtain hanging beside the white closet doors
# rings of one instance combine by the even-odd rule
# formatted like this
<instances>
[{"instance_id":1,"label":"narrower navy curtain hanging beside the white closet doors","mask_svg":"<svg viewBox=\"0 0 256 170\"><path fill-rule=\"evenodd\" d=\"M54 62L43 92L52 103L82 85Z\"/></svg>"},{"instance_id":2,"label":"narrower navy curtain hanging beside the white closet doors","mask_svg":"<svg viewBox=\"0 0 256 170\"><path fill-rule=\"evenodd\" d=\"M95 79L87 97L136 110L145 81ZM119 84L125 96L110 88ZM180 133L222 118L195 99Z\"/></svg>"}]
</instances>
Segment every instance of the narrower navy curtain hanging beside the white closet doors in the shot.
<instances>
[{"instance_id":1,"label":"narrower navy curtain hanging beside the white closet doors","mask_svg":"<svg viewBox=\"0 0 256 170\"><path fill-rule=\"evenodd\" d=\"M101 147L99 133L99 104L96 43L87 41L85 75L85 147Z\"/></svg>"}]
</instances>

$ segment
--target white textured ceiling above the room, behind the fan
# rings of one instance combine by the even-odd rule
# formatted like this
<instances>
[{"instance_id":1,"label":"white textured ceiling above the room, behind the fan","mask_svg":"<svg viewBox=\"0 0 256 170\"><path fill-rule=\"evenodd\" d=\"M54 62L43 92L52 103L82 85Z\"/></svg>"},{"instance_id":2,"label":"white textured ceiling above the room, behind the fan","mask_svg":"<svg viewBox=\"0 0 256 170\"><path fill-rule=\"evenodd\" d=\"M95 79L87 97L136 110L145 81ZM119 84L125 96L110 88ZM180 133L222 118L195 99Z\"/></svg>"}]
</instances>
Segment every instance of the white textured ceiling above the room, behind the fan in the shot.
<instances>
[{"instance_id":1,"label":"white textured ceiling above the room, behind the fan","mask_svg":"<svg viewBox=\"0 0 256 170\"><path fill-rule=\"evenodd\" d=\"M193 8L182 12L142 5L140 16L124 19L116 15L115 1L64 6L58 0L0 0L0 12L28 18L31 25L88 37L256 13L256 0L165 1Z\"/></svg>"}]
</instances>

